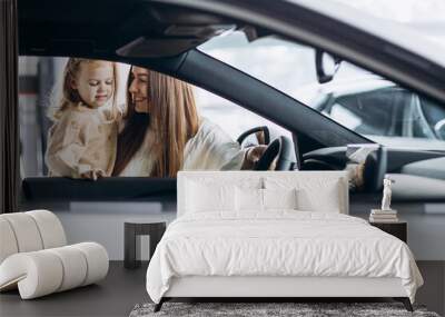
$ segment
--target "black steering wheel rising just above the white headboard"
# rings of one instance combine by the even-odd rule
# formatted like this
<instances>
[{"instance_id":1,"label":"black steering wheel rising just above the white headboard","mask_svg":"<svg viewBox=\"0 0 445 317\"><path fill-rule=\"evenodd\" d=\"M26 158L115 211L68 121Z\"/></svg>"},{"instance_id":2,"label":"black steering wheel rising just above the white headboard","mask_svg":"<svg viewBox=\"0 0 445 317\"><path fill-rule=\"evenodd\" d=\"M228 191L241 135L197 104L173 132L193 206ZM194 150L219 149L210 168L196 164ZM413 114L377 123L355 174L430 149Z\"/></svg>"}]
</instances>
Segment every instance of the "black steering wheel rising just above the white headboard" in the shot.
<instances>
[{"instance_id":1,"label":"black steering wheel rising just above the white headboard","mask_svg":"<svg viewBox=\"0 0 445 317\"><path fill-rule=\"evenodd\" d=\"M295 161L291 155L293 146L290 140L280 136L276 138L268 147L259 160L255 164L254 170L268 170L276 159L275 170L291 170Z\"/></svg>"}]
</instances>

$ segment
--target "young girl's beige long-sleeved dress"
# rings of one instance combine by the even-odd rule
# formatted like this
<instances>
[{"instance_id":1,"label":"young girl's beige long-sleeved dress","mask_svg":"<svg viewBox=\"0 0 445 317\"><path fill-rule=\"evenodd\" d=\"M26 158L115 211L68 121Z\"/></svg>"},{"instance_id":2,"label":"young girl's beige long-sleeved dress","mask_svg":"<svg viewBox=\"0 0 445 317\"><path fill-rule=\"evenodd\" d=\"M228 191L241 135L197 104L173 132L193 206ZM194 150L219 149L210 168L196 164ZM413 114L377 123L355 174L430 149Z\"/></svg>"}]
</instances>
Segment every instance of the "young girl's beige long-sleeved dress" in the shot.
<instances>
[{"instance_id":1,"label":"young girl's beige long-sleeved dress","mask_svg":"<svg viewBox=\"0 0 445 317\"><path fill-rule=\"evenodd\" d=\"M100 108L73 105L50 128L46 153L50 176L80 178L91 170L111 176L118 125Z\"/></svg>"}]
</instances>

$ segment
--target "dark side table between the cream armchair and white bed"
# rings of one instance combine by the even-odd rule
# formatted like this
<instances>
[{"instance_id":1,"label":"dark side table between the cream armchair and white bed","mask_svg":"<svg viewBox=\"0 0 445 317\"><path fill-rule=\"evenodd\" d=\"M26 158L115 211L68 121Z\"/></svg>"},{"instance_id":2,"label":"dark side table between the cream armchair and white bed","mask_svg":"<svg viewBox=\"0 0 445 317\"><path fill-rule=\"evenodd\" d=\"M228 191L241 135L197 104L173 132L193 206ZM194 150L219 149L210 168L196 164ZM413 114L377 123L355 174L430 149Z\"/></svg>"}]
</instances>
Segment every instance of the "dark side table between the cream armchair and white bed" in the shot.
<instances>
[{"instance_id":1,"label":"dark side table between the cream armchair and white bed","mask_svg":"<svg viewBox=\"0 0 445 317\"><path fill-rule=\"evenodd\" d=\"M159 244L166 231L167 224L160 222L139 222L128 220L123 224L123 267L137 268L140 260L136 259L136 239L137 236L150 236L150 258L152 257L156 246Z\"/></svg>"}]
</instances>

